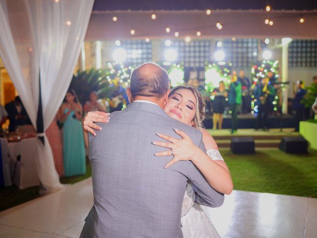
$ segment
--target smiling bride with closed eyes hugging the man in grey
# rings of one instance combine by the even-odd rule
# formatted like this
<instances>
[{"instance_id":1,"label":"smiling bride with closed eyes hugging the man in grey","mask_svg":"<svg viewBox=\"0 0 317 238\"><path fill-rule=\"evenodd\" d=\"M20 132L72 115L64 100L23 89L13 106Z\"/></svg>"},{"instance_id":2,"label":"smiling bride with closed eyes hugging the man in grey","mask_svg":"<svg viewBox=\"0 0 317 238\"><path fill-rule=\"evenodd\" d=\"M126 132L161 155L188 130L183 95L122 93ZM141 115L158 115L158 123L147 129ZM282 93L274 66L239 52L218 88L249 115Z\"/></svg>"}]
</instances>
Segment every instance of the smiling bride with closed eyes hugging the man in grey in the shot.
<instances>
[{"instance_id":1,"label":"smiling bride with closed eyes hugging the man in grey","mask_svg":"<svg viewBox=\"0 0 317 238\"><path fill-rule=\"evenodd\" d=\"M218 147L207 130L202 128L205 117L205 102L200 92L190 86L177 86L169 94L164 107L165 113L173 119L189 124L201 130L203 142L207 154L195 146L186 133L174 128L181 139L176 139L164 134L157 134L167 142L154 141L157 146L166 147L169 150L156 153L156 156L170 156L174 158L165 165L172 166L180 160L190 160L204 175L208 183L218 192L230 194L233 189L232 180L226 163L218 151ZM108 122L109 114L102 112L89 112L83 119L85 131L85 143L88 146L87 133L96 135L93 129L101 128L94 122ZM179 138L177 136L177 138ZM188 183L182 205L181 218L182 232L184 238L220 238L211 221L195 202L195 191L191 183Z\"/></svg>"}]
</instances>

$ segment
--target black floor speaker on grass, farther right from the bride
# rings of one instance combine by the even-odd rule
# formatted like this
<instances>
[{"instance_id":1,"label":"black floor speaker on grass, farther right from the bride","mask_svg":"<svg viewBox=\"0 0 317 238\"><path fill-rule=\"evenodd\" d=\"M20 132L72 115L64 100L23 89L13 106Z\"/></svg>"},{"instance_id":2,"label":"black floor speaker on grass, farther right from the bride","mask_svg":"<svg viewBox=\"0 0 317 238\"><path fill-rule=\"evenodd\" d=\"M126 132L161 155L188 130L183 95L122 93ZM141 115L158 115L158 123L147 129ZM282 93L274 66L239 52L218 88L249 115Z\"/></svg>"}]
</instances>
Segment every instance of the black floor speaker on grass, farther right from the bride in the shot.
<instances>
[{"instance_id":1,"label":"black floor speaker on grass, farther right from the bride","mask_svg":"<svg viewBox=\"0 0 317 238\"><path fill-rule=\"evenodd\" d=\"M308 142L302 136L285 136L279 143L279 149L286 153L307 154Z\"/></svg>"}]
</instances>

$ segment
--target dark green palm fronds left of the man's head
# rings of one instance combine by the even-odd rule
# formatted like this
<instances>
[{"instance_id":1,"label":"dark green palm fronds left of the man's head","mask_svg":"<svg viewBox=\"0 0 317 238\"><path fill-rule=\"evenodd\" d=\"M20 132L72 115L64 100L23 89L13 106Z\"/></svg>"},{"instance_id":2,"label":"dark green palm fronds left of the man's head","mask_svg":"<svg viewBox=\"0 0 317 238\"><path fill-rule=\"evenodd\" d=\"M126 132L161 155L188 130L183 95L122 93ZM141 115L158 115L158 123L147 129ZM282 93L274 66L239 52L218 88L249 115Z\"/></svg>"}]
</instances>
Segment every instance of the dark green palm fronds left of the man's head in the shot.
<instances>
[{"instance_id":1,"label":"dark green palm fronds left of the man's head","mask_svg":"<svg viewBox=\"0 0 317 238\"><path fill-rule=\"evenodd\" d=\"M89 101L91 91L96 91L99 98L109 98L116 88L110 86L106 76L107 72L103 69L91 68L82 72L78 71L73 75L69 88L75 90L82 105Z\"/></svg>"}]
</instances>

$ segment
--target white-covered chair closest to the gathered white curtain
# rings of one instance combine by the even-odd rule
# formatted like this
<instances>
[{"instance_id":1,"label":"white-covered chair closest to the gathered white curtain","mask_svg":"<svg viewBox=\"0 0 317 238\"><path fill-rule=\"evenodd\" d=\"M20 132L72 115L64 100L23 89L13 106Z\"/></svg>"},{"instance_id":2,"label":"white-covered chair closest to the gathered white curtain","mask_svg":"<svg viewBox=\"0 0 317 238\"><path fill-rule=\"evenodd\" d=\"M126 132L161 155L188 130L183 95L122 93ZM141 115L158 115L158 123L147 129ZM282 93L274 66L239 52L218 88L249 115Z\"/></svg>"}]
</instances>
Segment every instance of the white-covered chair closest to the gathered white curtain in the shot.
<instances>
[{"instance_id":1,"label":"white-covered chair closest to the gathered white curtain","mask_svg":"<svg viewBox=\"0 0 317 238\"><path fill-rule=\"evenodd\" d=\"M25 138L19 143L21 159L17 162L14 184L20 188L40 184L36 169L37 138Z\"/></svg>"}]
</instances>

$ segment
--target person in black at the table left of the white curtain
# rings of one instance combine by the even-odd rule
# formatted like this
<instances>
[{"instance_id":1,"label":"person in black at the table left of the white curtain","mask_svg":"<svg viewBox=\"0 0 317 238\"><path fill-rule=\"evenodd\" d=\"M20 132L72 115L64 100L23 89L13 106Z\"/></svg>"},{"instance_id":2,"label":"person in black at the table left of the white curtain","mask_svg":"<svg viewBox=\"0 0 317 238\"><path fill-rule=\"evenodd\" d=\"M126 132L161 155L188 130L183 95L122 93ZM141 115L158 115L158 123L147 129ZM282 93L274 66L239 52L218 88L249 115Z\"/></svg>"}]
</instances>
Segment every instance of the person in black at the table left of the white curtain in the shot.
<instances>
[{"instance_id":1,"label":"person in black at the table left of the white curtain","mask_svg":"<svg viewBox=\"0 0 317 238\"><path fill-rule=\"evenodd\" d=\"M14 101L5 105L10 121L9 131L14 131L17 126L24 124L32 124L19 96Z\"/></svg>"}]
</instances>

